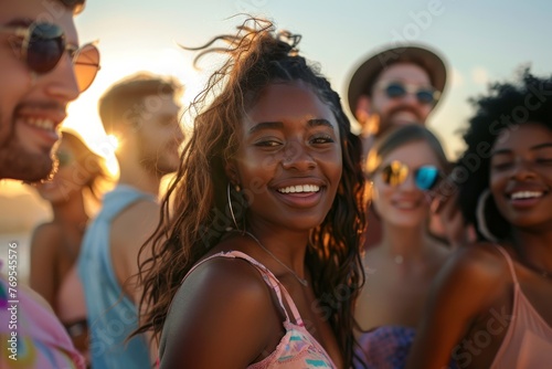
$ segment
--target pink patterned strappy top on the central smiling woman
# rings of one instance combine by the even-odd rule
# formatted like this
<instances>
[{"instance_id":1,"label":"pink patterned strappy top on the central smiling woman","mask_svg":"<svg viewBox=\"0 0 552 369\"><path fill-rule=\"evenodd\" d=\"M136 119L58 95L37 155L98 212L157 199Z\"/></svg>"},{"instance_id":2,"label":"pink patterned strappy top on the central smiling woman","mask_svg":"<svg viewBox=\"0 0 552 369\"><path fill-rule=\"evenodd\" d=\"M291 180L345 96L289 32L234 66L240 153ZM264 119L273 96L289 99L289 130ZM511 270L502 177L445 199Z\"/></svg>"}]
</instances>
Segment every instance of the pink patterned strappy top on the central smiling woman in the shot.
<instances>
[{"instance_id":1,"label":"pink patterned strappy top on the central smiling woman","mask_svg":"<svg viewBox=\"0 0 552 369\"><path fill-rule=\"evenodd\" d=\"M284 285L276 278L276 276L263 264L254 260L247 254L240 251L221 252L212 255L197 265L194 265L187 276L192 273L199 265L213 257L231 257L243 259L252 264L263 276L263 280L269 288L274 291L278 299L278 305L284 312L285 320L284 328L286 334L282 337L276 349L263 360L255 362L247 368L263 369L263 368L285 368L285 369L310 369L310 368L337 368L331 361L330 356L326 352L322 346L316 340L312 335L307 330L305 324L299 315L299 310L295 305L291 296L286 291ZM184 277L185 278L185 277ZM286 301L295 323L289 319L289 315L284 307L284 299Z\"/></svg>"}]
</instances>

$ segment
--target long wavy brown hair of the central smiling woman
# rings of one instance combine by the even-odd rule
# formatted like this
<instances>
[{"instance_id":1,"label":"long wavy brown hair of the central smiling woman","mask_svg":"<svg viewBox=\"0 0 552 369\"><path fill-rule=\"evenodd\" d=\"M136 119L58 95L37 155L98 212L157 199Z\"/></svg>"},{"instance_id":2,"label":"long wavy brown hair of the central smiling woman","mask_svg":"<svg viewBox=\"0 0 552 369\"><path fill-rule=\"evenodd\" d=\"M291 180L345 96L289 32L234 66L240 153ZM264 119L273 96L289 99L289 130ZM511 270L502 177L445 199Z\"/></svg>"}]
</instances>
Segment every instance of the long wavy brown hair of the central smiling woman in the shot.
<instances>
[{"instance_id":1,"label":"long wavy brown hair of the central smiling woman","mask_svg":"<svg viewBox=\"0 0 552 369\"><path fill-rule=\"evenodd\" d=\"M226 199L230 180L224 167L237 150L242 118L268 84L301 81L330 106L339 125L342 178L329 213L311 231L306 264L318 297L316 308L329 320L350 367L353 304L364 282L360 257L365 225L360 141L351 133L339 95L317 66L299 56L299 40L289 32L276 33L269 21L247 19L235 35L220 35L193 49L202 50L197 61L213 51L224 53L227 60L192 104L200 113L177 177L162 201L161 221L150 239L152 256L140 264L145 288L140 305L148 313L137 334L153 330L159 337L185 274L233 226ZM221 41L226 48L213 46ZM242 197L235 191L232 196ZM244 203L238 219L247 211L245 199L241 200L236 201Z\"/></svg>"}]
</instances>

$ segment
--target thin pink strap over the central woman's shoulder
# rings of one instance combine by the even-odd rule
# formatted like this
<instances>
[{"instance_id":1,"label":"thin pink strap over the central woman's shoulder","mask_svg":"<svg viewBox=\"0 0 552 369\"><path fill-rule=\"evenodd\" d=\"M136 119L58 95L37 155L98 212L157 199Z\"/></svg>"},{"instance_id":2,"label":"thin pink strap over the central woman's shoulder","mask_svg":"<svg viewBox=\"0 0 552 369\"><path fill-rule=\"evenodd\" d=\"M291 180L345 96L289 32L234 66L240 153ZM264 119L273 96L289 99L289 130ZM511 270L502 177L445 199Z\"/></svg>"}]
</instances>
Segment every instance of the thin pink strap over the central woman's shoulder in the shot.
<instances>
[{"instance_id":1,"label":"thin pink strap over the central woman's shoulder","mask_svg":"<svg viewBox=\"0 0 552 369\"><path fill-rule=\"evenodd\" d=\"M301 316L299 315L299 310L297 309L297 306L295 306L295 303L291 299L291 296L289 296L289 293L287 292L286 287L284 287L284 285L276 278L276 276L266 266L264 266L263 264L261 264L259 262L257 262L255 259L251 257L250 255L247 255L247 254L245 254L245 253L243 253L241 251L220 252L217 254L211 255L211 256L202 260L198 264L195 264L188 272L188 274L184 276L184 278L190 273L192 273L198 266L200 266L201 264L203 264L208 260L211 260L211 259L214 259L214 257L221 257L221 256L222 257L233 257L233 259L237 257L237 259L243 259L243 260L247 261L250 264L252 264L253 266L255 266L255 268L257 271L259 271L261 275L263 275L263 280L265 281L265 283L270 288L273 288L274 292L276 293L276 296L278 297L279 306L282 307L282 309L284 310L284 314L286 316L286 321L289 321L289 315L287 314L287 309L284 306L284 301L282 298L283 296L286 299L286 303L289 306L289 309L291 310L291 314L293 314L293 316L295 318L296 324L298 326L301 326L301 327L304 326Z\"/></svg>"}]
</instances>

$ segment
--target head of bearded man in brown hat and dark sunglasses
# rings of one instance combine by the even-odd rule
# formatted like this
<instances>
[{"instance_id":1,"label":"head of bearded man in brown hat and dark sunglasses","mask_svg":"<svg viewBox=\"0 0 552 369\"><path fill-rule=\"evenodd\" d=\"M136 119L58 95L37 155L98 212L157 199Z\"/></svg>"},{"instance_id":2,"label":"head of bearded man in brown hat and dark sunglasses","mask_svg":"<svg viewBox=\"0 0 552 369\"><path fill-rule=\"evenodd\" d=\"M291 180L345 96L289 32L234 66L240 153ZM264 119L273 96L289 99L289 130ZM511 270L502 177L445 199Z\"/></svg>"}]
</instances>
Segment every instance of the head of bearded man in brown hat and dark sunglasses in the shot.
<instances>
[{"instance_id":1,"label":"head of bearded man in brown hat and dark sunglasses","mask_svg":"<svg viewBox=\"0 0 552 369\"><path fill-rule=\"evenodd\" d=\"M362 62L349 82L348 103L362 128L364 154L392 126L425 124L446 76L443 59L417 45L386 49Z\"/></svg>"}]
</instances>

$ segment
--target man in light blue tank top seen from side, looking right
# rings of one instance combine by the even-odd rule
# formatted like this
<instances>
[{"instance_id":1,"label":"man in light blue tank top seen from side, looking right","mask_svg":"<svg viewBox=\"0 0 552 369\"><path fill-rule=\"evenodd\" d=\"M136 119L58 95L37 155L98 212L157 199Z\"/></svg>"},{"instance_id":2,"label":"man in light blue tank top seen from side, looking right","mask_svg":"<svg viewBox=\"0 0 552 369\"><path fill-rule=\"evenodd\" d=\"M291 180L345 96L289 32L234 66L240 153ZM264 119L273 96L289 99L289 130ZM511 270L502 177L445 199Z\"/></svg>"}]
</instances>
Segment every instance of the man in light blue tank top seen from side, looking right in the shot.
<instances>
[{"instance_id":1,"label":"man in light blue tank top seen from side, looking right","mask_svg":"<svg viewBox=\"0 0 552 369\"><path fill-rule=\"evenodd\" d=\"M149 352L157 345L144 335L127 340L138 325L141 294L131 276L139 247L158 223L161 179L179 165L181 89L172 78L138 73L117 82L99 101L104 128L119 141L120 175L85 233L78 260L93 368L151 368Z\"/></svg>"}]
</instances>

